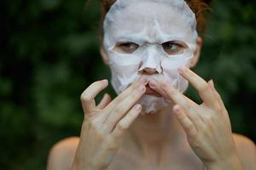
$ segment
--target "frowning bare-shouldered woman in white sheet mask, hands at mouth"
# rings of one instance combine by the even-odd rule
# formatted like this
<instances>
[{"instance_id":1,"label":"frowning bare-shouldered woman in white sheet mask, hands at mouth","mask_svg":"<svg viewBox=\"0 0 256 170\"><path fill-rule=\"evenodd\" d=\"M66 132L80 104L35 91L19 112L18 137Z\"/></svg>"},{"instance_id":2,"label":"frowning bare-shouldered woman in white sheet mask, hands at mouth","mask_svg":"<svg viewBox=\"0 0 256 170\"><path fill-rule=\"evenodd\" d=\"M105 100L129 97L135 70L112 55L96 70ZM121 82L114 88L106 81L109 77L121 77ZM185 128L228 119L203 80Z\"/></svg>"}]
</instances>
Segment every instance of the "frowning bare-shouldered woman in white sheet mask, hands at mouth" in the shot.
<instances>
[{"instance_id":1,"label":"frowning bare-shouldered woman in white sheet mask, hands at mouth","mask_svg":"<svg viewBox=\"0 0 256 170\"><path fill-rule=\"evenodd\" d=\"M85 89L81 136L55 144L48 169L255 169L255 145L232 134L213 81L189 70L201 52L205 2L102 4L102 58L119 95L96 105L108 81ZM201 105L183 95L188 82Z\"/></svg>"}]
</instances>

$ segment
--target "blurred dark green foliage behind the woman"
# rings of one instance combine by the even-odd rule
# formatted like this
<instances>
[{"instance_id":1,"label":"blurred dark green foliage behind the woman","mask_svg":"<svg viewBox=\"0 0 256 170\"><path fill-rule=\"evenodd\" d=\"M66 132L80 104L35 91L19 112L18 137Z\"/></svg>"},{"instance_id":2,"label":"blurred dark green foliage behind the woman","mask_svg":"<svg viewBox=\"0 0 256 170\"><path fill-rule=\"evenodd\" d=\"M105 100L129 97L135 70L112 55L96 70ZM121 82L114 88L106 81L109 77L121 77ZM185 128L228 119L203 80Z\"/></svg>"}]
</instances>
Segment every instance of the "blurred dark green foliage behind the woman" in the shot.
<instances>
[{"instance_id":1,"label":"blurred dark green foliage behind the woman","mask_svg":"<svg viewBox=\"0 0 256 170\"><path fill-rule=\"evenodd\" d=\"M50 147L78 136L79 96L110 71L99 54L100 1L0 2L0 167L43 170ZM233 131L256 141L255 1L216 0L195 72L216 83ZM108 88L113 94L113 89ZM200 102L189 88L190 98ZM102 94L99 98L102 97ZM98 98L98 99L99 99Z\"/></svg>"}]
</instances>

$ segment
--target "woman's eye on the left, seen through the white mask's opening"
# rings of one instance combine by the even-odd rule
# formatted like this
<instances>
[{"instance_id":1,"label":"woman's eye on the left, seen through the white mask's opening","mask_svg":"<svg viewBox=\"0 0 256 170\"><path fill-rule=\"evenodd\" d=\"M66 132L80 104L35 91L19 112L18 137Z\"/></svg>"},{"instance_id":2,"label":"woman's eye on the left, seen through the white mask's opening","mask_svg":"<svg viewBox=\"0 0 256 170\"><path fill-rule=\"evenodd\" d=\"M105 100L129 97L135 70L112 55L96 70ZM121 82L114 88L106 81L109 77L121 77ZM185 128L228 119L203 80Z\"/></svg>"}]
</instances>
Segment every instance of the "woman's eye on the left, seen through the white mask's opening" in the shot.
<instances>
[{"instance_id":1,"label":"woman's eye on the left, seen through the white mask's opening","mask_svg":"<svg viewBox=\"0 0 256 170\"><path fill-rule=\"evenodd\" d=\"M138 47L139 45L134 42L118 42L113 49L119 53L132 54Z\"/></svg>"}]
</instances>

